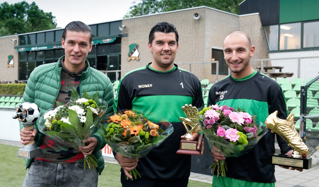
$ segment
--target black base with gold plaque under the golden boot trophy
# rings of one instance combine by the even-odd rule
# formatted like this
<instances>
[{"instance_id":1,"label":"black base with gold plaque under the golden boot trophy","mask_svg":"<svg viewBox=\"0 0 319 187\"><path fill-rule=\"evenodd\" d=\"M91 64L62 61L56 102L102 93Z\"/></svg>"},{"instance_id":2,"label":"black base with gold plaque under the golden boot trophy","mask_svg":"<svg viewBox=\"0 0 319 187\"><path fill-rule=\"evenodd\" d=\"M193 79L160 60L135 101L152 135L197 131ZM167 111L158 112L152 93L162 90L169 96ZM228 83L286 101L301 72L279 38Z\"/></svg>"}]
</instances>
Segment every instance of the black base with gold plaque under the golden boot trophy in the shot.
<instances>
[{"instance_id":1,"label":"black base with gold plaque under the golden boot trophy","mask_svg":"<svg viewBox=\"0 0 319 187\"><path fill-rule=\"evenodd\" d=\"M274 165L310 169L311 168L311 158L309 157L293 157L288 155L281 155L277 153L268 154L267 162Z\"/></svg>"}]
</instances>

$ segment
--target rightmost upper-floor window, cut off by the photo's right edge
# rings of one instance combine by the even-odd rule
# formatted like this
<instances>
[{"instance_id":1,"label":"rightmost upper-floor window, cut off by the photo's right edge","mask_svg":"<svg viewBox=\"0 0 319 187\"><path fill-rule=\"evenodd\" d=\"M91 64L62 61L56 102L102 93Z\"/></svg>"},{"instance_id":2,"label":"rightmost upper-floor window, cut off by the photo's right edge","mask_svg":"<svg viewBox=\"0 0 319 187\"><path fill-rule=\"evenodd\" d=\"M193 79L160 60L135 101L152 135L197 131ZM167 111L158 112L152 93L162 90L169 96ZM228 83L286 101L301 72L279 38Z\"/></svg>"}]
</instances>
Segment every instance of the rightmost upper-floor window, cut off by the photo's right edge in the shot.
<instances>
[{"instance_id":1,"label":"rightmost upper-floor window, cut off by the photo's right edge","mask_svg":"<svg viewBox=\"0 0 319 187\"><path fill-rule=\"evenodd\" d=\"M319 47L319 22L303 24L303 47Z\"/></svg>"}]
</instances>

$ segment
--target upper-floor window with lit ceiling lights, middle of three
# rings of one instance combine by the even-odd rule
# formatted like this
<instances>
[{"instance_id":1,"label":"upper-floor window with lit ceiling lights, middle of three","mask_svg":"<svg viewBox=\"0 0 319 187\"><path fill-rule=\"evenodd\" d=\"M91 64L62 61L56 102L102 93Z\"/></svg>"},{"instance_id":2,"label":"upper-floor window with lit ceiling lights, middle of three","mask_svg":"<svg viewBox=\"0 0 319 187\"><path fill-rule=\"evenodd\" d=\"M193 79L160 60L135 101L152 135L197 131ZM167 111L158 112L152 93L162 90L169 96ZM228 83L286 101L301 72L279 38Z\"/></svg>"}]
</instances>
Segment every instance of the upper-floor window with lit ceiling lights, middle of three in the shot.
<instances>
[{"instance_id":1,"label":"upper-floor window with lit ceiling lights, middle of three","mask_svg":"<svg viewBox=\"0 0 319 187\"><path fill-rule=\"evenodd\" d=\"M300 49L301 23L280 25L279 50Z\"/></svg>"}]
</instances>

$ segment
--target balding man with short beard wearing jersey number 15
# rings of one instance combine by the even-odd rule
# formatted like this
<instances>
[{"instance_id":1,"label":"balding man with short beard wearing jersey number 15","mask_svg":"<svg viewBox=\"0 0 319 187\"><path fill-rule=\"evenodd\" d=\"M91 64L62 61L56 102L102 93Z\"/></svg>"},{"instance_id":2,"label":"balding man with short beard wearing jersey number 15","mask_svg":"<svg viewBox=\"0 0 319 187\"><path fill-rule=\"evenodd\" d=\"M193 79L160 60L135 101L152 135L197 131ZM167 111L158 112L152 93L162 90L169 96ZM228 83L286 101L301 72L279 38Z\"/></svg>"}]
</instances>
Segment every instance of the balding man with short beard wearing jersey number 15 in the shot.
<instances>
[{"instance_id":1,"label":"balding man with short beard wearing jersey number 15","mask_svg":"<svg viewBox=\"0 0 319 187\"><path fill-rule=\"evenodd\" d=\"M288 110L286 99L280 85L251 66L255 46L251 45L249 36L242 31L230 33L224 40L224 57L231 70L231 75L215 83L208 96L208 105L227 105L240 107L257 120L264 123L269 114L278 111L278 118L286 119ZM277 142L281 154L291 155L293 149L280 136ZM274 187L275 166L268 164L267 154L275 153L275 133L270 129L247 154L240 157L227 157L211 148L215 162L227 161L226 177L213 176L213 187L254 186ZM307 156L304 154L303 156ZM295 168L286 168L295 170ZM302 171L302 169L296 169Z\"/></svg>"}]
</instances>

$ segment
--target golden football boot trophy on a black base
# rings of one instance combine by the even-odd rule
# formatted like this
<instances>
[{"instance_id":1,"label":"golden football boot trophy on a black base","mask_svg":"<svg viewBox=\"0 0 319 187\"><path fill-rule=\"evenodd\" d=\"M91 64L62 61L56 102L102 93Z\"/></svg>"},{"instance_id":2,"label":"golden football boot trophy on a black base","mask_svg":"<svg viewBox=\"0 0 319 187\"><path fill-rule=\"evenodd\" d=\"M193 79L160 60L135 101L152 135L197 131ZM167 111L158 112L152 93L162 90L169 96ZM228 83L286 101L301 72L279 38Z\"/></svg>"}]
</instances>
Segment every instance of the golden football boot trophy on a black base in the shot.
<instances>
[{"instance_id":1,"label":"golden football boot trophy on a black base","mask_svg":"<svg viewBox=\"0 0 319 187\"><path fill-rule=\"evenodd\" d=\"M294 151L291 156L275 153L269 154L268 161L275 165L308 170L311 168L311 158L302 157L302 154L308 154L309 150L293 125L294 114L289 114L286 120L279 119L277 114L278 111L275 111L267 117L265 121L266 128L271 129L271 133L275 132L282 137Z\"/></svg>"}]
</instances>

